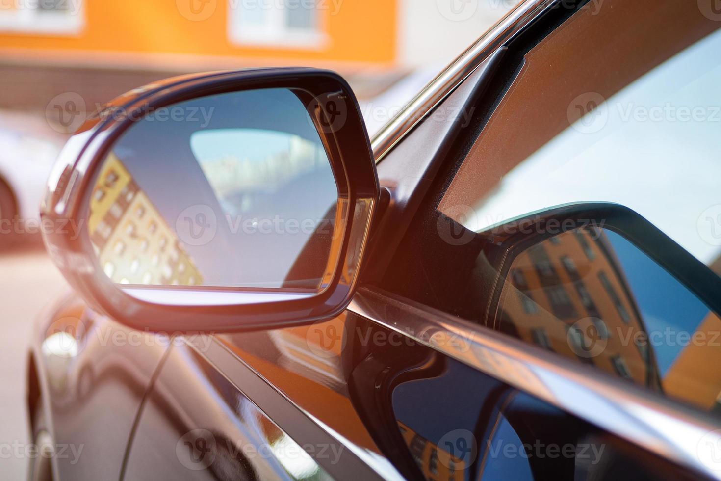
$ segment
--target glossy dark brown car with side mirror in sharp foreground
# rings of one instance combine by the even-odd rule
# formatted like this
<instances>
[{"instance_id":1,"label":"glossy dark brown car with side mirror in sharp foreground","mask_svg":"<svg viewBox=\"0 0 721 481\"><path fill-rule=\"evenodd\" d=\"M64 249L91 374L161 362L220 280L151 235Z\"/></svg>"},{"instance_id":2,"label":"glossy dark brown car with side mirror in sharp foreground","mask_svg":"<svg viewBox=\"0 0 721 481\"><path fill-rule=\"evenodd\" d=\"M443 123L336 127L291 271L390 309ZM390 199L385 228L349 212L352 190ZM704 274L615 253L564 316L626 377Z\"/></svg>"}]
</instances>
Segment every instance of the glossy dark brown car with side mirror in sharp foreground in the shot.
<instances>
[{"instance_id":1,"label":"glossy dark brown car with side mirror in sharp foreground","mask_svg":"<svg viewBox=\"0 0 721 481\"><path fill-rule=\"evenodd\" d=\"M721 477L720 19L523 1L372 141L318 69L110 102L41 207L31 479Z\"/></svg>"}]
</instances>

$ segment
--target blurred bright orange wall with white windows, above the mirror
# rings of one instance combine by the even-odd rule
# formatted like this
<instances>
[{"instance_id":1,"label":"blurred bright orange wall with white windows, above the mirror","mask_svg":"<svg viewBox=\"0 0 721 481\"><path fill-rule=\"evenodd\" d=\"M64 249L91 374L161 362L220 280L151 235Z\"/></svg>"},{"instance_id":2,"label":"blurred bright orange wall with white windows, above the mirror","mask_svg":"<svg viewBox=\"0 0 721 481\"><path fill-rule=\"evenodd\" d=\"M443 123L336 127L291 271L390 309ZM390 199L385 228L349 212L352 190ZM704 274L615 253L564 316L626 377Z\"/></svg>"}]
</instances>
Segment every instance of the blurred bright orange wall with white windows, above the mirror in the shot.
<instances>
[{"instance_id":1,"label":"blurred bright orange wall with white windows, above the mirror","mask_svg":"<svg viewBox=\"0 0 721 481\"><path fill-rule=\"evenodd\" d=\"M394 61L396 6L387 0L0 0L0 45L6 58L90 66L379 66Z\"/></svg>"}]
</instances>

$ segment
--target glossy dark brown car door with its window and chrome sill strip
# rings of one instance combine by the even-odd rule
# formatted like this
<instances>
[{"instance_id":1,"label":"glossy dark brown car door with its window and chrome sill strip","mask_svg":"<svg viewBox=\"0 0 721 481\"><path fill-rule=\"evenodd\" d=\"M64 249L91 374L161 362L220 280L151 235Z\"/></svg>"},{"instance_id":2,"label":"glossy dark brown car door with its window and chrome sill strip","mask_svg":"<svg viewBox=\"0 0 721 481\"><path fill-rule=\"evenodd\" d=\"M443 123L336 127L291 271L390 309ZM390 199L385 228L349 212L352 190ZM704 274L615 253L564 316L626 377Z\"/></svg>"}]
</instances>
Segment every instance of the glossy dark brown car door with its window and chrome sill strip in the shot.
<instances>
[{"instance_id":1,"label":"glossy dark brown car door with its window and chrome sill strip","mask_svg":"<svg viewBox=\"0 0 721 481\"><path fill-rule=\"evenodd\" d=\"M719 26L671 1L549 9L381 159L396 202L348 310L174 346L125 477L712 474L721 149L696 100Z\"/></svg>"}]
</instances>

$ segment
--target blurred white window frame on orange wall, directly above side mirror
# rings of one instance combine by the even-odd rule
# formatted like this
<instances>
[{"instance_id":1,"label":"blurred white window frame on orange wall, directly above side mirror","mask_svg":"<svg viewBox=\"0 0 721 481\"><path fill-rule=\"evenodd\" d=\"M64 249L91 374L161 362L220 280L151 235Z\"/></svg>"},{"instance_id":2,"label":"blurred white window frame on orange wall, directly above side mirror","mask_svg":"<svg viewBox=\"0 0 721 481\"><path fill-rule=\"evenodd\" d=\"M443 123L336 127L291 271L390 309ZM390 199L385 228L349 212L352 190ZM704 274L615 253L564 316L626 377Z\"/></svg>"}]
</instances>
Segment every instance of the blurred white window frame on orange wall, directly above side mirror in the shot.
<instances>
[{"instance_id":1,"label":"blurred white window frame on orange wall, directly above side mirror","mask_svg":"<svg viewBox=\"0 0 721 481\"><path fill-rule=\"evenodd\" d=\"M260 5L263 0L256 0L254 5ZM281 0L270 0L267 6L260 7L265 13L265 22L253 25L245 22L247 14L246 4L242 0L229 0L228 8L228 37L237 45L257 45L265 47L282 47L289 49L314 50L324 47L328 37L324 32L324 15L319 9L314 9L317 15L316 26L313 29L292 28L286 25L286 8Z\"/></svg>"}]
</instances>

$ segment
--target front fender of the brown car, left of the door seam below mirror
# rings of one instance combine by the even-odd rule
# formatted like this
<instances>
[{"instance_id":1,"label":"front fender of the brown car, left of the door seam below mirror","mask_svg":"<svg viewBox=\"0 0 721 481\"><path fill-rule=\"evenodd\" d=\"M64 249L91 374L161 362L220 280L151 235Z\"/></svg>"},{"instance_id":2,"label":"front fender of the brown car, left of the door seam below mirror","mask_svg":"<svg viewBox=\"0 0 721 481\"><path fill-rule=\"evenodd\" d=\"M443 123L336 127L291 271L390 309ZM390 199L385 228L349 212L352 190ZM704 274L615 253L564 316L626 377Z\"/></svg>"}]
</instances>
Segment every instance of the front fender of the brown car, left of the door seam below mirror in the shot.
<instances>
[{"instance_id":1,"label":"front fender of the brown car, left of the door seam below mirror","mask_svg":"<svg viewBox=\"0 0 721 481\"><path fill-rule=\"evenodd\" d=\"M52 419L56 479L114 478L169 338L131 330L75 296L47 318L35 333L40 348L31 365L36 376L43 369L45 382L30 385L28 400Z\"/></svg>"}]
</instances>

